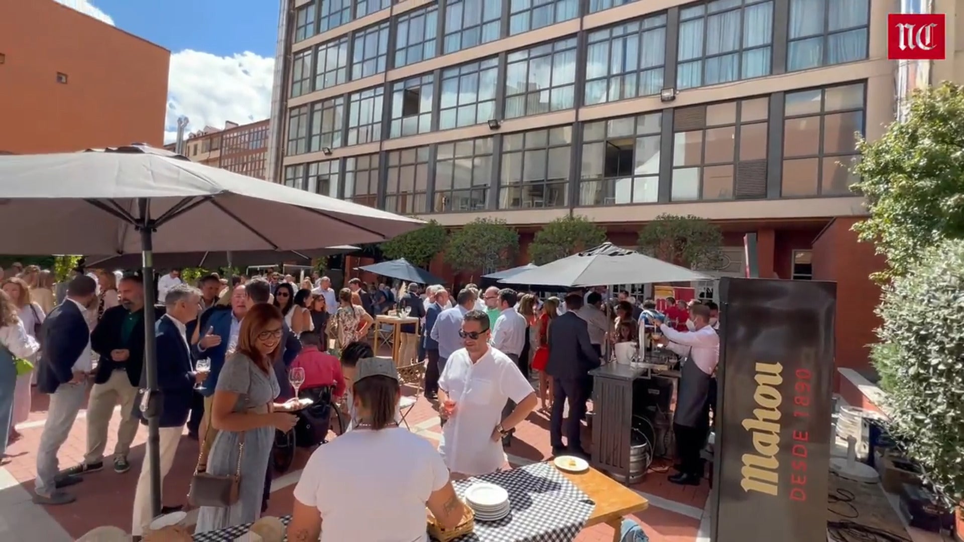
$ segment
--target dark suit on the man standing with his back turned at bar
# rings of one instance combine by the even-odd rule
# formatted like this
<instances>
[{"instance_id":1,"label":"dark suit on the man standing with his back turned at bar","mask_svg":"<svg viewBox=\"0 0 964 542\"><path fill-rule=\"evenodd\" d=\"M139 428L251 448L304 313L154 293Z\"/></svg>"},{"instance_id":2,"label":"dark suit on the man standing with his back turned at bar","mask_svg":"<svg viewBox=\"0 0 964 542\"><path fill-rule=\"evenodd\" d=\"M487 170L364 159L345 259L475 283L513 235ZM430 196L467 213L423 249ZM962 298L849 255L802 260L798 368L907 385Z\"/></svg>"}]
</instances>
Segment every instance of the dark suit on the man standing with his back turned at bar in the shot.
<instances>
[{"instance_id":1,"label":"dark suit on the man standing with his back turned at bar","mask_svg":"<svg viewBox=\"0 0 964 542\"><path fill-rule=\"evenodd\" d=\"M553 449L563 447L562 419L564 401L569 401L566 435L570 450L582 451L580 420L589 400L589 371L600 366L600 358L589 342L586 321L576 312L566 312L552 320L549 327L549 361L546 374L552 377L552 415L549 441Z\"/></svg>"}]
</instances>

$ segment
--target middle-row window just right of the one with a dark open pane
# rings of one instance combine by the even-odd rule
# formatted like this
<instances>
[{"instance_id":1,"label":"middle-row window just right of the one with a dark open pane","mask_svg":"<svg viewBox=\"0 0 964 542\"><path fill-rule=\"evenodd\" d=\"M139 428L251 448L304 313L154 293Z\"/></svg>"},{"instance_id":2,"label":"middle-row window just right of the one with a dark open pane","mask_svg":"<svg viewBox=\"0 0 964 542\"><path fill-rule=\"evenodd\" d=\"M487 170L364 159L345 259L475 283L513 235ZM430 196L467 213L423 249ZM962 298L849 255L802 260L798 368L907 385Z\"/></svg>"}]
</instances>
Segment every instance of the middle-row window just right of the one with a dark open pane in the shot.
<instances>
[{"instance_id":1,"label":"middle-row window just right of the one with a dark open pane","mask_svg":"<svg viewBox=\"0 0 964 542\"><path fill-rule=\"evenodd\" d=\"M443 69L439 129L495 119L497 81L497 57Z\"/></svg>"}]
</instances>

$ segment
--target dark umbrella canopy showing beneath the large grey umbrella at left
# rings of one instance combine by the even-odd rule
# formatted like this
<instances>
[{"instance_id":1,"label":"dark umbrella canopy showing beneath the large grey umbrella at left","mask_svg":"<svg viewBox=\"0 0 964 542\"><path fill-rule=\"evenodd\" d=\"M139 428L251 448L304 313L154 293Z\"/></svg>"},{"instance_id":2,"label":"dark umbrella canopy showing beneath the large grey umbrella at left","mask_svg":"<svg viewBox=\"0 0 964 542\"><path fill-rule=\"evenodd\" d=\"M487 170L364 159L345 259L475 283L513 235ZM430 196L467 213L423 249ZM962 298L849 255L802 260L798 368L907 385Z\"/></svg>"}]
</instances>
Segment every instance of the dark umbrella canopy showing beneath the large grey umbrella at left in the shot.
<instances>
[{"instance_id":1,"label":"dark umbrella canopy showing beneath the large grey umbrella at left","mask_svg":"<svg viewBox=\"0 0 964 542\"><path fill-rule=\"evenodd\" d=\"M264 263L278 263L281 261L307 263L315 257L329 257L336 254L361 250L352 245L337 245L324 249L309 251L242 251L242 252L185 252L162 253L154 255L154 266L161 268L174 267L231 267L234 265L247 267ZM131 269L141 266L141 253L122 254L116 256L88 256L85 257L88 267L103 269Z\"/></svg>"}]
</instances>

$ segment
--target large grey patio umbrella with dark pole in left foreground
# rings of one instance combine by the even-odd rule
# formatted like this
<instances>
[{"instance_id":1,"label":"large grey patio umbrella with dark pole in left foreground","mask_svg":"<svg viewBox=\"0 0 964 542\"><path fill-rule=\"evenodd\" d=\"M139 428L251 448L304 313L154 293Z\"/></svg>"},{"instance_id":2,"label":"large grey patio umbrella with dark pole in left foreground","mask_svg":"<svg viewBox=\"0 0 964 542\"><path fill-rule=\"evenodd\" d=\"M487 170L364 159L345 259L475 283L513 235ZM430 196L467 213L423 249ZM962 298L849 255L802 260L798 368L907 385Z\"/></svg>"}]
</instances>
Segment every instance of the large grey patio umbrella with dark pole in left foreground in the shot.
<instances>
[{"instance_id":1,"label":"large grey patio umbrella with dark pole in left foreground","mask_svg":"<svg viewBox=\"0 0 964 542\"><path fill-rule=\"evenodd\" d=\"M0 254L303 250L381 242L419 220L194 163L142 145L0 156ZM160 512L154 293L145 288L147 460Z\"/></svg>"}]
</instances>

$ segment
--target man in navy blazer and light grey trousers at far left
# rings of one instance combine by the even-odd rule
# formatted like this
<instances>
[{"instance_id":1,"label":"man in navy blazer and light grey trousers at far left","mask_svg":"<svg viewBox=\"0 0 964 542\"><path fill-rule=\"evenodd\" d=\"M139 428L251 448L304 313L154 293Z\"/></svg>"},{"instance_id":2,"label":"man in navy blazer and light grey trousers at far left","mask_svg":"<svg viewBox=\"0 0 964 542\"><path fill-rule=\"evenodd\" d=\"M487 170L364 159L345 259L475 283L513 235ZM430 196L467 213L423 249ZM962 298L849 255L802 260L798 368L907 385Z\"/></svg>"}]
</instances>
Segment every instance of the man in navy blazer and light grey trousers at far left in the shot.
<instances>
[{"instance_id":1,"label":"man in navy blazer and light grey trousers at far left","mask_svg":"<svg viewBox=\"0 0 964 542\"><path fill-rule=\"evenodd\" d=\"M43 321L40 336L43 356L37 374L37 388L50 393L47 420L37 449L37 479L34 501L39 504L67 504L74 497L58 488L81 481L80 476L58 476L57 451L67 441L77 412L84 405L87 381L94 368L91 329L85 314L96 297L97 283L78 275L67 284L67 299Z\"/></svg>"}]
</instances>

